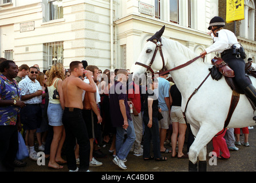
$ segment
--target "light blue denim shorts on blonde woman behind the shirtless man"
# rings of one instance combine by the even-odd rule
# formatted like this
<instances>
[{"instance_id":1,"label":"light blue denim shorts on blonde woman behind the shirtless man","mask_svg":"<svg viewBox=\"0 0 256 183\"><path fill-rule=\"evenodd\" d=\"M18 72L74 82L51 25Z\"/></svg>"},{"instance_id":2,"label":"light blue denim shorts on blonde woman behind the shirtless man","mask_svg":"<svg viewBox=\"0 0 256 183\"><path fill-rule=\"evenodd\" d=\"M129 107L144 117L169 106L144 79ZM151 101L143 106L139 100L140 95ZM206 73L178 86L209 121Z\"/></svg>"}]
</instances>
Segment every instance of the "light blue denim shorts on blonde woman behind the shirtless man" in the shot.
<instances>
[{"instance_id":1,"label":"light blue denim shorts on blonde woman behind the shirtless man","mask_svg":"<svg viewBox=\"0 0 256 183\"><path fill-rule=\"evenodd\" d=\"M63 110L60 104L48 104L47 116L50 126L62 126Z\"/></svg>"}]
</instances>

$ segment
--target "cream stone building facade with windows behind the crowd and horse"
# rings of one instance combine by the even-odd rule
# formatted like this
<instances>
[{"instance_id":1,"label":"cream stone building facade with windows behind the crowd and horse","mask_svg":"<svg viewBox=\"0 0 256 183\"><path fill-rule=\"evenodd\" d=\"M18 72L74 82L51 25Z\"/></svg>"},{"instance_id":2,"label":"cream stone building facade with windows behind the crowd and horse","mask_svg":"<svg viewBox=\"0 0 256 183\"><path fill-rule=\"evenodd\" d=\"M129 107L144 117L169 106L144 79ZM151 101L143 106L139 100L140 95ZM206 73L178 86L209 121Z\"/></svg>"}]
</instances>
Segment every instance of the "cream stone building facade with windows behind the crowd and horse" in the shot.
<instances>
[{"instance_id":1,"label":"cream stone building facade with windows behind the crowd and horse","mask_svg":"<svg viewBox=\"0 0 256 183\"><path fill-rule=\"evenodd\" d=\"M37 63L42 70L55 62L68 68L76 60L86 60L101 70L132 69L145 41L163 25L164 37L199 54L212 44L207 27L212 17L225 15L224 2L0 0L0 57L13 59L18 66ZM254 1L246 3L248 12L255 11ZM239 41L255 62L255 14L248 14L248 19L236 26L243 27L238 31ZM248 21L254 25L246 29ZM206 61L214 56L207 55Z\"/></svg>"}]
</instances>

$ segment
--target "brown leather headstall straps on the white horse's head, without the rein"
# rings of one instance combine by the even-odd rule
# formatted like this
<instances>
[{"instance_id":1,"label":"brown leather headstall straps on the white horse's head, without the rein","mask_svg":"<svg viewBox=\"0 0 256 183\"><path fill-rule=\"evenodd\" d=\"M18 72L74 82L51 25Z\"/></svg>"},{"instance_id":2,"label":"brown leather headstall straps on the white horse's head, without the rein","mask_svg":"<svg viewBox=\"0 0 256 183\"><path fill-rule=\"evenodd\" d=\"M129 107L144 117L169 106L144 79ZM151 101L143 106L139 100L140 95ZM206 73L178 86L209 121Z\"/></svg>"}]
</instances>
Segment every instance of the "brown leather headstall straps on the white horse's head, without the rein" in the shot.
<instances>
[{"instance_id":1,"label":"brown leather headstall straps on the white horse's head, without the rein","mask_svg":"<svg viewBox=\"0 0 256 183\"><path fill-rule=\"evenodd\" d=\"M156 57L156 53L157 53L157 51L159 50L159 52L160 52L160 55L161 55L161 57L162 57L162 61L163 61L163 67L162 67L162 70L164 69L164 56L163 56L163 51L162 51L162 43L161 43L161 38L159 39L159 41L157 41L157 42L155 42L155 41L151 41L151 42L153 42L153 43L155 43L156 44L156 49L155 49L155 52L153 53L153 57L152 57L152 59L151 59L151 61L150 61L150 63L149 63L149 65L145 65L144 63L140 63L140 62L135 62L135 65L140 65L140 66L143 66L143 67L145 67L147 70L146 70L146 73L148 73L148 70L149 71L151 71L151 73L153 74L154 73L154 71L152 70L152 68L151 68L151 66L152 66L152 64L153 64L153 61L155 60L155 57Z\"/></svg>"}]
</instances>

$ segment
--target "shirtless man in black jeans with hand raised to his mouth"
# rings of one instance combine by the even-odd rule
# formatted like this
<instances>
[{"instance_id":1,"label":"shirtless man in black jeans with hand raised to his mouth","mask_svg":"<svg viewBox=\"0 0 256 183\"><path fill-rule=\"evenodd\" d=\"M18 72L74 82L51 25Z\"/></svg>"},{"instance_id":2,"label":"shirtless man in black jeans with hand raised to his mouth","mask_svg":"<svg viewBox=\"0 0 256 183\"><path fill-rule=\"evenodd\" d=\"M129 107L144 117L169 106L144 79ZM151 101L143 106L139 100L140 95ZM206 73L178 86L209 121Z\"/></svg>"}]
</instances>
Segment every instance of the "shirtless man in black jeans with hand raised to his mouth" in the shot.
<instances>
[{"instance_id":1,"label":"shirtless man in black jeans with hand raised to his mouth","mask_svg":"<svg viewBox=\"0 0 256 183\"><path fill-rule=\"evenodd\" d=\"M64 79L60 90L60 102L64 109L62 122L66 132L66 161L70 172L78 171L74 146L79 145L80 168L79 171L87 171L89 168L90 142L84 119L82 118L82 92L96 92L96 85L92 79L92 72L87 71L86 77L90 84L82 81L80 76L85 72L82 62L70 63L70 77ZM62 93L62 95L61 95Z\"/></svg>"}]
</instances>

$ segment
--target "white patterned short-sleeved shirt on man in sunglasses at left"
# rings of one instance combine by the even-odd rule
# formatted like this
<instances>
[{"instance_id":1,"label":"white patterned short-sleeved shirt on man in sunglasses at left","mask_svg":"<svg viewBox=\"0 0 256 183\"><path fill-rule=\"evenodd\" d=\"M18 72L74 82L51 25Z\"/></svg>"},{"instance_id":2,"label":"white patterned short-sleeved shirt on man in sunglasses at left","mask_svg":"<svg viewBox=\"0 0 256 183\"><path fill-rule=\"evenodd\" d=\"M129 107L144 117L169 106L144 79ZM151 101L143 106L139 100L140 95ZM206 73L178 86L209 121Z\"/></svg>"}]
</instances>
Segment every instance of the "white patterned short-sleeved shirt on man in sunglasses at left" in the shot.
<instances>
[{"instance_id":1,"label":"white patterned short-sleeved shirt on man in sunglasses at left","mask_svg":"<svg viewBox=\"0 0 256 183\"><path fill-rule=\"evenodd\" d=\"M31 81L31 79L26 76L18 83L19 89L21 89L21 96L25 96L27 94L32 94L37 92L37 90L42 89L40 83L35 79L35 82ZM41 104L42 96L37 96L30 98L29 100L23 101L25 104Z\"/></svg>"}]
</instances>

